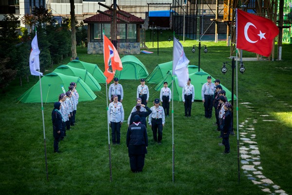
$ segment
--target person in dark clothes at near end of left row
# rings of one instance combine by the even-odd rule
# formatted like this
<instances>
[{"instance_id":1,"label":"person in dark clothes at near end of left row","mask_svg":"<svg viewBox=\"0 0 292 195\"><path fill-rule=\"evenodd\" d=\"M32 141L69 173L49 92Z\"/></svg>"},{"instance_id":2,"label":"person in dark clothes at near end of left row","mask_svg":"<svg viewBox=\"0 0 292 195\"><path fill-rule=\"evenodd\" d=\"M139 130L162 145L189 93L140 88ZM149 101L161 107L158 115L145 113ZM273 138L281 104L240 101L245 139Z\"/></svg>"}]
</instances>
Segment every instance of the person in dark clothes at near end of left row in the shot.
<instances>
[{"instance_id":1,"label":"person in dark clothes at near end of left row","mask_svg":"<svg viewBox=\"0 0 292 195\"><path fill-rule=\"evenodd\" d=\"M54 103L54 109L52 111L52 122L53 122L53 136L54 140L54 152L59 153L59 141L61 138L61 132L63 131L62 115L60 113L61 102Z\"/></svg>"}]
</instances>

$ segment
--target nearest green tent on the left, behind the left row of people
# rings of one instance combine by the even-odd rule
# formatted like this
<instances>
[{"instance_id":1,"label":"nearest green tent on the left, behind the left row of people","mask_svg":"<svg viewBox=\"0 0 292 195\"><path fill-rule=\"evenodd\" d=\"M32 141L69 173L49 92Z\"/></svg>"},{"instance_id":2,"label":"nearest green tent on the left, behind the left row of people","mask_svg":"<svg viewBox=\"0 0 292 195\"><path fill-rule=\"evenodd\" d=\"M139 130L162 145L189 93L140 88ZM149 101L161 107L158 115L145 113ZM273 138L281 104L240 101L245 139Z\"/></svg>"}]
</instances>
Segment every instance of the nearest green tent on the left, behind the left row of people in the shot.
<instances>
[{"instance_id":1,"label":"nearest green tent on the left, behind the left row of people","mask_svg":"<svg viewBox=\"0 0 292 195\"><path fill-rule=\"evenodd\" d=\"M42 98L44 103L56 102L59 95L68 91L71 82L76 82L79 101L91 101L96 98L89 86L79 77L67 76L61 73L50 73L41 78ZM39 81L18 98L23 103L39 103Z\"/></svg>"}]
</instances>

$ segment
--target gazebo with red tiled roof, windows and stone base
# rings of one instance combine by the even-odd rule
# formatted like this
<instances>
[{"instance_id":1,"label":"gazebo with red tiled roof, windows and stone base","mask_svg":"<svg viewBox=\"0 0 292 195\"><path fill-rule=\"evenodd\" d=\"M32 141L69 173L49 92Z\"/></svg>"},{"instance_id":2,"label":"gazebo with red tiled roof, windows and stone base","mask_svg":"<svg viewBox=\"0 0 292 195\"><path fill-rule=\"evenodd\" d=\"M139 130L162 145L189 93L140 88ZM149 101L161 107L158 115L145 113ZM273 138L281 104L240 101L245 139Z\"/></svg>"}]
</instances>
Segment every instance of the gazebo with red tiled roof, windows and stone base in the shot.
<instances>
[{"instance_id":1,"label":"gazebo with red tiled roof, windows and stone base","mask_svg":"<svg viewBox=\"0 0 292 195\"><path fill-rule=\"evenodd\" d=\"M119 10L128 17L117 13L117 18L128 20L128 23L117 19L117 51L119 54L140 54L140 28L144 20ZM111 10L105 11L106 14L112 15ZM103 53L103 31L111 39L110 25L112 18L104 14L96 14L84 20L88 23L88 54Z\"/></svg>"}]
</instances>

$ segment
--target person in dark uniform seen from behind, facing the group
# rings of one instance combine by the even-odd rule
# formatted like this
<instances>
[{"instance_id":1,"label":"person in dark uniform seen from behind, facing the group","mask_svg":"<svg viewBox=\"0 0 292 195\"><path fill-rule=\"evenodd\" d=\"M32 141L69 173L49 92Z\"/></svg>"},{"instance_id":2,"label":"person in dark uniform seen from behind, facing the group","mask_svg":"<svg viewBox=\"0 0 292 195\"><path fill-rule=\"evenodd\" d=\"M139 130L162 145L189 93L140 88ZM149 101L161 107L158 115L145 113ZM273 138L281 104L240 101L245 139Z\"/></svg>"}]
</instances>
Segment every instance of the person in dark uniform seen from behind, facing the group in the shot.
<instances>
[{"instance_id":1,"label":"person in dark uniform seen from behind, facing the group","mask_svg":"<svg viewBox=\"0 0 292 195\"><path fill-rule=\"evenodd\" d=\"M127 147L130 158L130 167L133 173L142 172L147 154L148 137L144 124L140 122L140 117L133 117L134 123L128 127Z\"/></svg>"}]
</instances>

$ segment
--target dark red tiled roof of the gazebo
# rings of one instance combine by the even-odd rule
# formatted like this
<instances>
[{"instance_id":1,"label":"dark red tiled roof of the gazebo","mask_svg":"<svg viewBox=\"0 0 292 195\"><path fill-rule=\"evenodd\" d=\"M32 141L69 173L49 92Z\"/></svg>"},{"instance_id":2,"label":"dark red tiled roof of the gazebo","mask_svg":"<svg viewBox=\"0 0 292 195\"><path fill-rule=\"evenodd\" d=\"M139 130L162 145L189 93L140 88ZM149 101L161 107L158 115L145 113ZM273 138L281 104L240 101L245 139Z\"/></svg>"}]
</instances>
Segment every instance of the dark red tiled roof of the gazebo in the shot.
<instances>
[{"instance_id":1,"label":"dark red tiled roof of the gazebo","mask_svg":"<svg viewBox=\"0 0 292 195\"><path fill-rule=\"evenodd\" d=\"M144 23L144 20L142 20L142 19L140 19L132 14L129 14L128 12L125 12L122 10L119 10L119 11L124 13L124 14L129 15L130 17L127 18L127 17L117 13L117 18L128 20L129 23L131 23L131 24L143 24ZM112 15L111 10L107 10L107 11L105 11L105 13ZM112 19L109 16L106 16L106 15L100 13L100 14L96 14L94 16L91 16L83 21L84 21L84 23L111 23L111 20ZM125 22L117 19L117 23L125 23Z\"/></svg>"}]
</instances>

